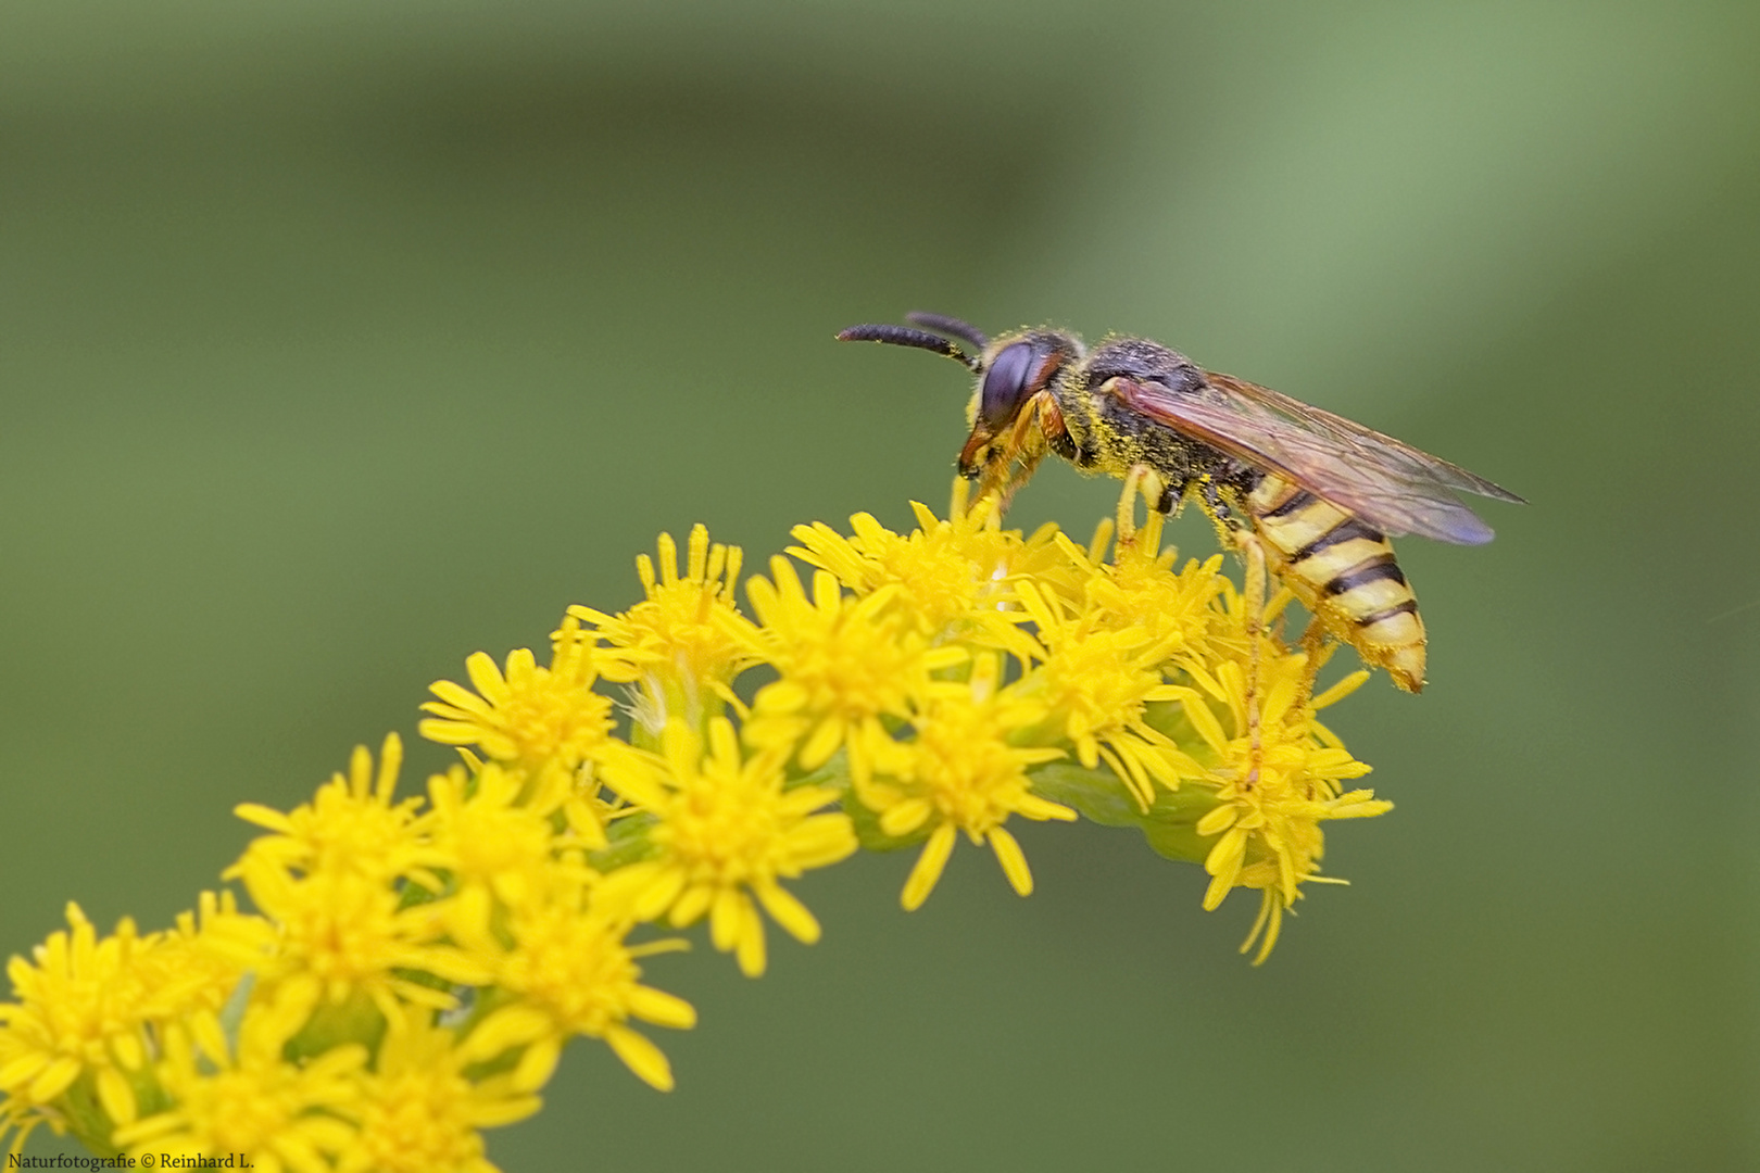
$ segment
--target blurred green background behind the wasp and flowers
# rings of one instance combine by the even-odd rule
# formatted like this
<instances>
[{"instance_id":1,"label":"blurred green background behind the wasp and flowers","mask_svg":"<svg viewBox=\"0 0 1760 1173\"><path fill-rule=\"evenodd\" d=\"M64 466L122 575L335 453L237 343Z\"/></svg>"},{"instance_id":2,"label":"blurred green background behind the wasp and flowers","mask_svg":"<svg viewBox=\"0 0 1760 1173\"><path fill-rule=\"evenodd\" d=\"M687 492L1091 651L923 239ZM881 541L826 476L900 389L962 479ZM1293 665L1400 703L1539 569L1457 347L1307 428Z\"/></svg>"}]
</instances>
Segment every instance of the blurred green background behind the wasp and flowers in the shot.
<instances>
[{"instance_id":1,"label":"blurred green background behind the wasp and flowers","mask_svg":"<svg viewBox=\"0 0 1760 1173\"><path fill-rule=\"evenodd\" d=\"M963 378L838 327L1054 320L1533 501L1401 547L1433 684L1336 714L1397 804L1334 825L1353 886L1251 969L1128 832L1028 827L1031 900L961 848L910 916L854 860L762 981L649 965L678 1092L577 1045L491 1155L1755 1168L1756 148L1753 4L16 0L0 953L164 925L236 802L627 607L660 529L942 508Z\"/></svg>"}]
</instances>

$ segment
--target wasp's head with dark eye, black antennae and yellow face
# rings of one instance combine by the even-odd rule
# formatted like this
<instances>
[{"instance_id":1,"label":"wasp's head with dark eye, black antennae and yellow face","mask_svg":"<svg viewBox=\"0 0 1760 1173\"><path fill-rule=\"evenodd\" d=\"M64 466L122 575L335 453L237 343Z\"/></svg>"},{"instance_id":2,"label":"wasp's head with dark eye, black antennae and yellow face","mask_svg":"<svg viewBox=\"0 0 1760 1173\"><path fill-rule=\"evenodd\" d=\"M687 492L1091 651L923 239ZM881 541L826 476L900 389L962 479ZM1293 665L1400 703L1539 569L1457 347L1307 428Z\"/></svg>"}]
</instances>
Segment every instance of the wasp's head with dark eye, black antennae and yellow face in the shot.
<instances>
[{"instance_id":1,"label":"wasp's head with dark eye, black antennae and yellow face","mask_svg":"<svg viewBox=\"0 0 1760 1173\"><path fill-rule=\"evenodd\" d=\"M1081 359L1081 341L1047 329L989 339L959 318L938 313L905 317L928 329L852 325L838 339L917 346L964 364L977 382L966 410L972 434L959 450L959 475L982 478L982 491L1001 489L1007 496L1031 475L1047 441L1065 438L1052 385L1060 371ZM966 353L950 338L972 345L977 353Z\"/></svg>"}]
</instances>

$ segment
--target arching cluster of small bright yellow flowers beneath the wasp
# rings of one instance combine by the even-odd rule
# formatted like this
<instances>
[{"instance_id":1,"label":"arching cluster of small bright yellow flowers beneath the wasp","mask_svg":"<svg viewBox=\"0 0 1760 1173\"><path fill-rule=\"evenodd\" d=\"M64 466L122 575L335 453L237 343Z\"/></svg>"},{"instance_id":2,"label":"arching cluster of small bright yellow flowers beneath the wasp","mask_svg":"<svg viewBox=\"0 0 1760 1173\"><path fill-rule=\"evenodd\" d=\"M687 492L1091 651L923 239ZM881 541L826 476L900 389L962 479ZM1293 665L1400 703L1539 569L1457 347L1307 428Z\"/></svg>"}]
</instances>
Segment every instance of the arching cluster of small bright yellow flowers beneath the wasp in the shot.
<instances>
[{"instance_id":1,"label":"arching cluster of small bright yellow flowers beneath the wasp","mask_svg":"<svg viewBox=\"0 0 1760 1173\"><path fill-rule=\"evenodd\" d=\"M1243 950L1264 960L1324 879L1320 823L1389 809L1345 790L1368 767L1315 719L1366 674L1313 696L1309 654L1221 556L1176 570L1158 517L1107 557L1111 522L1082 547L987 501L915 512L908 535L796 528L750 612L737 549L699 526L681 572L662 535L644 598L570 608L547 667L479 652L468 688L433 686L421 732L461 761L426 798L396 797L392 735L292 812L241 805L266 834L176 927L100 936L69 907L9 965L0 1138L486 1173L482 1129L537 1111L574 1036L672 1087L639 1025L695 1011L642 983L685 944L656 930L708 920L759 976L766 918L818 939L788 886L806 871L915 849L915 909L961 834L1026 895L1012 818L1135 827L1204 865L1206 907L1257 890Z\"/></svg>"}]
</instances>

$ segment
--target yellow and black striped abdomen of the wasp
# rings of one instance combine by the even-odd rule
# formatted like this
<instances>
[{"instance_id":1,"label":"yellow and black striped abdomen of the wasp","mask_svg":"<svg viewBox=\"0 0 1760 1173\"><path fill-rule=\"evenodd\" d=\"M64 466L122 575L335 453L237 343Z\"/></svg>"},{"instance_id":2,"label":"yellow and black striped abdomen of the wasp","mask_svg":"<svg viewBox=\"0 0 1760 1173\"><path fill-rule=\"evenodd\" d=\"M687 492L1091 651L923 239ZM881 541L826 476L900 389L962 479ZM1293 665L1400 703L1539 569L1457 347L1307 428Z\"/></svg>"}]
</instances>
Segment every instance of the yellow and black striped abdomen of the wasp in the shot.
<instances>
[{"instance_id":1,"label":"yellow and black striped abdomen of the wasp","mask_svg":"<svg viewBox=\"0 0 1760 1173\"><path fill-rule=\"evenodd\" d=\"M1325 630L1408 693L1424 688L1424 621L1387 538L1281 477L1265 475L1246 505L1274 568Z\"/></svg>"}]
</instances>

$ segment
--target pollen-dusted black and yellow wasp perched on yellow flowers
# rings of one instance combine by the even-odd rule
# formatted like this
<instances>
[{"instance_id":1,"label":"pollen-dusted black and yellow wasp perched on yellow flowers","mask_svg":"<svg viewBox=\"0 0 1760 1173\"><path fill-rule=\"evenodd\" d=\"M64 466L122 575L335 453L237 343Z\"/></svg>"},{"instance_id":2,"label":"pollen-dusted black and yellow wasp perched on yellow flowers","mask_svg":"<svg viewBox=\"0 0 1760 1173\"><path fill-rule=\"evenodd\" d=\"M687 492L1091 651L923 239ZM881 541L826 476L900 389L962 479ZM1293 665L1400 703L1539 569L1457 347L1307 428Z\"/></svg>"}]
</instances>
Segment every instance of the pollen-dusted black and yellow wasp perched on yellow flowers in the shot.
<instances>
[{"instance_id":1,"label":"pollen-dusted black and yellow wasp perched on yellow flowers","mask_svg":"<svg viewBox=\"0 0 1760 1173\"><path fill-rule=\"evenodd\" d=\"M913 325L852 325L838 339L917 346L972 371L959 473L980 494L1007 505L1052 452L1125 478L1121 536L1139 491L1163 514L1197 499L1248 554L1250 596L1257 589L1262 600L1265 572L1276 573L1316 621L1311 635L1350 644L1408 693L1424 688L1426 635L1389 538L1482 545L1491 526L1456 494L1522 503L1448 461L1146 338L1109 336L1088 350L1058 329L991 339L959 318L906 320Z\"/></svg>"}]
</instances>

